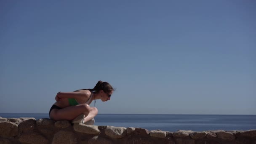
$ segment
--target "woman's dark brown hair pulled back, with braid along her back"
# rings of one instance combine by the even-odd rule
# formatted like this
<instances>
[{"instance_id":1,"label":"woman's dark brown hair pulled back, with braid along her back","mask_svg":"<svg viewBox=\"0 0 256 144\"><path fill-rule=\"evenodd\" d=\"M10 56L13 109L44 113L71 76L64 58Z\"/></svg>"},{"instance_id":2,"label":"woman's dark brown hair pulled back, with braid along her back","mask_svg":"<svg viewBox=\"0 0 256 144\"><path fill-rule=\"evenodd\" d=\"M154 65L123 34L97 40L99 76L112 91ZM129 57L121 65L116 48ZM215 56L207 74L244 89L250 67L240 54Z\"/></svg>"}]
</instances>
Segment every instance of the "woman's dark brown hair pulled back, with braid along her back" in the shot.
<instances>
[{"instance_id":1,"label":"woman's dark brown hair pulled back, with braid along her back","mask_svg":"<svg viewBox=\"0 0 256 144\"><path fill-rule=\"evenodd\" d=\"M100 90L103 90L105 93L110 93L111 91L115 91L112 86L107 82L102 82L101 80L98 81L98 83L94 86L93 89L80 89L81 90L89 90L89 91L95 91L95 93L98 93Z\"/></svg>"}]
</instances>

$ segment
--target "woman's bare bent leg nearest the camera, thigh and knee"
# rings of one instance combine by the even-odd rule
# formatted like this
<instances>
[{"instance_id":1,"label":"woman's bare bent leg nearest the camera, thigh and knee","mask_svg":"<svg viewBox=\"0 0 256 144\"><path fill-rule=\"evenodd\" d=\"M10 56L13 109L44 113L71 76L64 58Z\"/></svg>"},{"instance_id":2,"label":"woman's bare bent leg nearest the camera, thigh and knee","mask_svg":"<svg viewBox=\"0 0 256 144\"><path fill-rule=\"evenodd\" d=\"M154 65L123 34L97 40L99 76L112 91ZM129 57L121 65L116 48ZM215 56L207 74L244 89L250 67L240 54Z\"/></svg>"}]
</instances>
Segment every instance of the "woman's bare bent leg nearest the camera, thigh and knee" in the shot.
<instances>
[{"instance_id":1,"label":"woman's bare bent leg nearest the camera, thigh and knee","mask_svg":"<svg viewBox=\"0 0 256 144\"><path fill-rule=\"evenodd\" d=\"M88 104L79 104L62 109L53 109L50 113L50 118L56 121L73 120L81 114L85 115L85 122L87 122L98 114L98 110L96 107L90 107Z\"/></svg>"}]
</instances>

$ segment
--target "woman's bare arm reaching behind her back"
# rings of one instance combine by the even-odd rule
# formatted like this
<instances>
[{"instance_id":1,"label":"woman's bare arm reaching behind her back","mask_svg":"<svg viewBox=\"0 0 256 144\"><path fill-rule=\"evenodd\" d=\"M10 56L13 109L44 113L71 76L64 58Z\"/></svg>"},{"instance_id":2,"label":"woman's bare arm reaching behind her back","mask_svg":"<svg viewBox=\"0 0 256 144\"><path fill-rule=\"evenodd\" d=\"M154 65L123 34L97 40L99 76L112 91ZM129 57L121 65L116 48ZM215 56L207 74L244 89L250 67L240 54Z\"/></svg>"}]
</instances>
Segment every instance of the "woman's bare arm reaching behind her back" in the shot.
<instances>
[{"instance_id":1,"label":"woman's bare arm reaching behind her back","mask_svg":"<svg viewBox=\"0 0 256 144\"><path fill-rule=\"evenodd\" d=\"M88 94L86 91L59 92L56 94L55 99L56 101L60 101L65 98L81 99L81 96L88 97Z\"/></svg>"}]
</instances>

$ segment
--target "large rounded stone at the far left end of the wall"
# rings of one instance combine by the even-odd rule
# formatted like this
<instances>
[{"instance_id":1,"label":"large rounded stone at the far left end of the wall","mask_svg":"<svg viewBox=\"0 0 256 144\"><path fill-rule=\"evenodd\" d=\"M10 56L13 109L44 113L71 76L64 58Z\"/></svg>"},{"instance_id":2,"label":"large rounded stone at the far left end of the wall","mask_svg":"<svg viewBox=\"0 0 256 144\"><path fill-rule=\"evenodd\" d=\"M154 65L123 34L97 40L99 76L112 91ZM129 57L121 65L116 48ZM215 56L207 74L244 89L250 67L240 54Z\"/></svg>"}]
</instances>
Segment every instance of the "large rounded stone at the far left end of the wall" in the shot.
<instances>
[{"instance_id":1,"label":"large rounded stone at the far left end of the wall","mask_svg":"<svg viewBox=\"0 0 256 144\"><path fill-rule=\"evenodd\" d=\"M18 135L18 125L11 122L0 121L0 136L12 137Z\"/></svg>"}]
</instances>

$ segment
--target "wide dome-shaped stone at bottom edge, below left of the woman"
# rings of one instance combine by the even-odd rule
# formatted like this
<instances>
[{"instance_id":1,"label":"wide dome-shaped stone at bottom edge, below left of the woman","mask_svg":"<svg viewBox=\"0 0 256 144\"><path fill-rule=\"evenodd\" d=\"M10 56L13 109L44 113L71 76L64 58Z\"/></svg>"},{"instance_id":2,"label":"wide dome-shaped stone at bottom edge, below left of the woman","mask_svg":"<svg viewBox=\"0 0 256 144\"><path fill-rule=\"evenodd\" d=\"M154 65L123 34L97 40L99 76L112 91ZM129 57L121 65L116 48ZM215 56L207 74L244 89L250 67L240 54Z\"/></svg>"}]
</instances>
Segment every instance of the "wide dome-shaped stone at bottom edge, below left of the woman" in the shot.
<instances>
[{"instance_id":1,"label":"wide dome-shaped stone at bottom edge, below left of the woman","mask_svg":"<svg viewBox=\"0 0 256 144\"><path fill-rule=\"evenodd\" d=\"M48 140L36 132L23 133L19 137L19 142L26 144L48 144Z\"/></svg>"}]
</instances>

